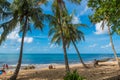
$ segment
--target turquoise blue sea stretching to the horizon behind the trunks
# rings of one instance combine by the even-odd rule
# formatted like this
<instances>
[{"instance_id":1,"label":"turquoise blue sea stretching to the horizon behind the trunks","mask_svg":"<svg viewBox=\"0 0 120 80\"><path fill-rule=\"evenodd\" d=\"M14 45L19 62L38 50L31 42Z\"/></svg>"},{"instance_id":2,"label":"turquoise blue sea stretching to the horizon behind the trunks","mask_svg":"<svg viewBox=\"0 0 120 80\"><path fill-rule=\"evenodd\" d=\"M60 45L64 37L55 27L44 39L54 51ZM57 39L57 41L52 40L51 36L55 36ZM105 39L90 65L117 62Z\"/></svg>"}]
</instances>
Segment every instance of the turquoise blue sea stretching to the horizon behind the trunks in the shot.
<instances>
[{"instance_id":1,"label":"turquoise blue sea stretching to the horizon behind the trunks","mask_svg":"<svg viewBox=\"0 0 120 80\"><path fill-rule=\"evenodd\" d=\"M0 65L7 63L15 65L18 61L18 54L0 54ZM85 62L94 59L114 58L113 54L81 54ZM69 63L78 63L77 54L68 54ZM24 54L22 64L64 64L63 54Z\"/></svg>"}]
</instances>

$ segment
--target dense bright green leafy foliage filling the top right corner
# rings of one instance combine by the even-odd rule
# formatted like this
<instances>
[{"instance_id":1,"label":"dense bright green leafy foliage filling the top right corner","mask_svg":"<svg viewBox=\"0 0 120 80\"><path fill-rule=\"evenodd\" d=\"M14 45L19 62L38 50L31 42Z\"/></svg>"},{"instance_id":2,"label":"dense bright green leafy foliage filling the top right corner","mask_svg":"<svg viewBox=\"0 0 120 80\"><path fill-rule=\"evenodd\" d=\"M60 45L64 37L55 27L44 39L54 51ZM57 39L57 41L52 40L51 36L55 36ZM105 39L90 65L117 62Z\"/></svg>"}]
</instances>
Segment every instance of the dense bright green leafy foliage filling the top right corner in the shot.
<instances>
[{"instance_id":1,"label":"dense bright green leafy foliage filling the top right corner","mask_svg":"<svg viewBox=\"0 0 120 80\"><path fill-rule=\"evenodd\" d=\"M120 33L120 1L119 0L89 0L88 6L94 11L90 16L91 22L111 26L113 32Z\"/></svg>"}]
</instances>

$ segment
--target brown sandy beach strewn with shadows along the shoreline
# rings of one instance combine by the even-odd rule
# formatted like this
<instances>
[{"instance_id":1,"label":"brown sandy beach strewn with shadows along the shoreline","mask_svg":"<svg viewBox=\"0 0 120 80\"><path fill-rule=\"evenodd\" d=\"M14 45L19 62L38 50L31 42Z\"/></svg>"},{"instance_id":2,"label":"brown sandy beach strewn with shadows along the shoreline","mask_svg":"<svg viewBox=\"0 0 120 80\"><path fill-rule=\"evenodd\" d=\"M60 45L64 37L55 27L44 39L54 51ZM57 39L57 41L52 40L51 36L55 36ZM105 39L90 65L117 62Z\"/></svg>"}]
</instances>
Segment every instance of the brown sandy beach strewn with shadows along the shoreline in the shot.
<instances>
[{"instance_id":1,"label":"brown sandy beach strewn with shadows along the shoreline","mask_svg":"<svg viewBox=\"0 0 120 80\"><path fill-rule=\"evenodd\" d=\"M84 76L86 80L117 80L109 79L111 77L118 76L120 69L115 61L102 62L97 67L93 67L92 63L87 64L88 69L82 67L81 64L70 64L71 71L77 69L79 75ZM65 76L64 65L54 65L55 69L40 68L21 70L18 75L18 80L63 80ZM12 75L10 70L6 75L1 76L1 80L5 80Z\"/></svg>"}]
</instances>

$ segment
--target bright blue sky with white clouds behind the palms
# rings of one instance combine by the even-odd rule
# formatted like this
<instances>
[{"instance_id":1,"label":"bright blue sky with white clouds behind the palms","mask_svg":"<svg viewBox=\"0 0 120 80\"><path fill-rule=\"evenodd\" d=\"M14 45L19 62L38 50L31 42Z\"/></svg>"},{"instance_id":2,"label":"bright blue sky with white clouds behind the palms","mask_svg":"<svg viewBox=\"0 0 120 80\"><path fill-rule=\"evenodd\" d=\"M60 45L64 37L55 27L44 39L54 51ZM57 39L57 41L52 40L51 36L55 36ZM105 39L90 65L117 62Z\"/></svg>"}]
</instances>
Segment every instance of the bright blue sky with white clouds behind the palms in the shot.
<instances>
[{"instance_id":1,"label":"bright blue sky with white clouds behind the palms","mask_svg":"<svg viewBox=\"0 0 120 80\"><path fill-rule=\"evenodd\" d=\"M102 30L101 23L91 24L88 15L92 14L91 9L87 7L87 0L83 0L81 5L66 2L69 13L75 10L73 18L74 23L87 24L89 28L81 29L85 34L85 41L77 43L81 53L113 53L107 34L107 26ZM44 13L51 14L51 1L47 6L42 5ZM2 21L0 21L1 23ZM0 53L19 53L21 35L18 27L7 36L7 40L0 46ZM33 28L32 33L28 32L25 37L24 53L63 53L62 45L51 44L51 38L48 37L49 26L46 23L43 32ZM0 29L0 33L2 29ZM114 34L113 41L117 53L120 53L120 36ZM67 50L68 53L75 53L74 47L71 45Z\"/></svg>"}]
</instances>

